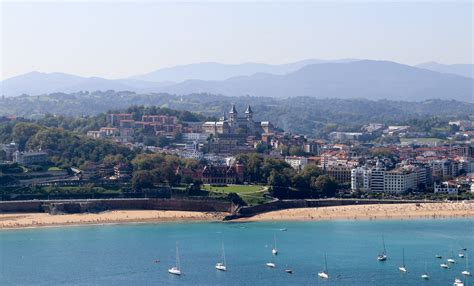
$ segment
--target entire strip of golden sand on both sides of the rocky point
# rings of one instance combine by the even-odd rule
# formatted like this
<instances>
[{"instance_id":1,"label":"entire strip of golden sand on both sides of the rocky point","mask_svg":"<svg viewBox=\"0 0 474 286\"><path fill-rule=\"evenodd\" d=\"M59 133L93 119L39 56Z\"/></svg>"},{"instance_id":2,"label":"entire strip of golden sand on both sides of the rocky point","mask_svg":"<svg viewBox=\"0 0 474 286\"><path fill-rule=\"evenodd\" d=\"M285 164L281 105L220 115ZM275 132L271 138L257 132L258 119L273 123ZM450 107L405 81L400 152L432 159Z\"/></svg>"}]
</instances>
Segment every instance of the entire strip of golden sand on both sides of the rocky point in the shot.
<instances>
[{"instance_id":1,"label":"entire strip of golden sand on both sides of the rocky point","mask_svg":"<svg viewBox=\"0 0 474 286\"><path fill-rule=\"evenodd\" d=\"M159 210L120 210L64 215L8 213L0 214L0 230L140 223L224 222L226 215L229 213ZM294 208L260 213L252 217L225 222L372 221L469 217L474 217L474 203L449 202Z\"/></svg>"}]
</instances>

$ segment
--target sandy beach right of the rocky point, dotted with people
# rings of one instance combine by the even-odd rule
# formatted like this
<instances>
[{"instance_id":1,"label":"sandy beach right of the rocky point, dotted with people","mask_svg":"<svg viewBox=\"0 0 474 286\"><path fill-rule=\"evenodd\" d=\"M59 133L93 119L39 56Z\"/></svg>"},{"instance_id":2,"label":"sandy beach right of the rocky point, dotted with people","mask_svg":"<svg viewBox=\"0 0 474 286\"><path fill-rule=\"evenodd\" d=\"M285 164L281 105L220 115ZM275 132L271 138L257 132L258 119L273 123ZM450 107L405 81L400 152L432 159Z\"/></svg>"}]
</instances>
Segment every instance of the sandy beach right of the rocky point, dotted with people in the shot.
<instances>
[{"instance_id":1,"label":"sandy beach right of the rocky point, dotted with people","mask_svg":"<svg viewBox=\"0 0 474 286\"><path fill-rule=\"evenodd\" d=\"M474 217L474 203L351 205L300 208L258 214L239 221L373 220Z\"/></svg>"}]
</instances>

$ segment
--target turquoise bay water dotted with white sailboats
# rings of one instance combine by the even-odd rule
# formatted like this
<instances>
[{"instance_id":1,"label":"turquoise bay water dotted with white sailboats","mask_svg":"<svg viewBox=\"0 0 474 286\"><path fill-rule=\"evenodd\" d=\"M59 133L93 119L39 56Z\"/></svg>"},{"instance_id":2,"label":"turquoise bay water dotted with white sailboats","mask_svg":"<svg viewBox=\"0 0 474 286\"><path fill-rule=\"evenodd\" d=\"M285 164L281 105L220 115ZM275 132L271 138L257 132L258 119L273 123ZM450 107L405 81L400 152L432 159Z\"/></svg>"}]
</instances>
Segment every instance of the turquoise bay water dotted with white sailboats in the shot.
<instances>
[{"instance_id":1,"label":"turquoise bay water dotted with white sailboats","mask_svg":"<svg viewBox=\"0 0 474 286\"><path fill-rule=\"evenodd\" d=\"M280 231L287 228L287 231ZM384 234L389 259L378 262ZM267 269L276 235L280 254ZM0 231L0 285L453 285L474 220L163 223ZM214 268L225 243L227 272ZM167 269L179 242L184 275ZM408 273L398 266L405 249ZM457 264L439 267L451 254ZM327 253L330 279L316 273ZM160 263L155 263L159 259ZM429 281L420 278L427 263ZM444 260L443 260L444 261ZM291 267L293 274L283 271ZM471 267L471 272L474 268ZM473 278L471 278L473 279ZM467 281L465 285L471 284Z\"/></svg>"}]
</instances>

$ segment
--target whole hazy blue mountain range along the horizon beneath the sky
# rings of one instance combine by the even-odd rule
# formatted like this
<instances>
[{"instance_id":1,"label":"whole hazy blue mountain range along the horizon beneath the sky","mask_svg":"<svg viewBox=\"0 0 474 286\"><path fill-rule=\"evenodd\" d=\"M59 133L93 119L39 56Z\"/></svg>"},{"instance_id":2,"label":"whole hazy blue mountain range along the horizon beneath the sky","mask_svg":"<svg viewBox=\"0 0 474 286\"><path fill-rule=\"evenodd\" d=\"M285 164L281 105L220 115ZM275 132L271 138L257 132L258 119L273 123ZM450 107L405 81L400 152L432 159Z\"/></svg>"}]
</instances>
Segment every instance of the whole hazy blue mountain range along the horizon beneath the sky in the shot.
<instances>
[{"instance_id":1,"label":"whole hazy blue mountain range along the horizon beneath the sky","mask_svg":"<svg viewBox=\"0 0 474 286\"><path fill-rule=\"evenodd\" d=\"M431 98L473 101L472 65L389 61L304 60L283 65L199 63L124 79L80 77L64 73L28 74L0 83L5 96L54 92L127 90L137 93L214 93L228 96L288 98L367 98L420 101ZM472 72L471 72L472 75Z\"/></svg>"}]
</instances>

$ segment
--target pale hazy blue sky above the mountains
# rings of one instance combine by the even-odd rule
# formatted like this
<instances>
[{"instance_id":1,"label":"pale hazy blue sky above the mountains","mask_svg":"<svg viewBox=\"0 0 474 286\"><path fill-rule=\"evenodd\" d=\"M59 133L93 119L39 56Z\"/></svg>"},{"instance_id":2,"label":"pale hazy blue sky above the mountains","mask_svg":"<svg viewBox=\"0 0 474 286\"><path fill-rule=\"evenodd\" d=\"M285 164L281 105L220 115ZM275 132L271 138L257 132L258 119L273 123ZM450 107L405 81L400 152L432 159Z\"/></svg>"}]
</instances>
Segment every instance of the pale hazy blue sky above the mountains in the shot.
<instances>
[{"instance_id":1,"label":"pale hazy blue sky above the mountains","mask_svg":"<svg viewBox=\"0 0 474 286\"><path fill-rule=\"evenodd\" d=\"M471 63L473 4L454 2L2 2L0 77L306 58Z\"/></svg>"}]
</instances>

